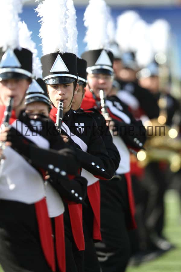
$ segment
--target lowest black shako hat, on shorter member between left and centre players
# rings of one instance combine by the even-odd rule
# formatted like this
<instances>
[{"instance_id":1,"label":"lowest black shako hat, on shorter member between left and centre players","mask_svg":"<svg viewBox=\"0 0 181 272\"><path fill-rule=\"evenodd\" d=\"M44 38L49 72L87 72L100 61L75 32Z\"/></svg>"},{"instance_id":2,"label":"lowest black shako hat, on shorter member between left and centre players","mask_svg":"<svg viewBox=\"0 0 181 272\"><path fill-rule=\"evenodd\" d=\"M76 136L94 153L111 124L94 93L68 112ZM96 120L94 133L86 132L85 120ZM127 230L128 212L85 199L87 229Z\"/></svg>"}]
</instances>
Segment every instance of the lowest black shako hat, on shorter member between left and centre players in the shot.
<instances>
[{"instance_id":1,"label":"lowest black shako hat, on shorter member between left and centre players","mask_svg":"<svg viewBox=\"0 0 181 272\"><path fill-rule=\"evenodd\" d=\"M33 79L32 83L27 89L25 99L26 99L25 105L30 104L32 102L44 102L49 107L51 107L51 103L49 101L46 89L46 84L41 78L38 78L36 80Z\"/></svg>"}]
</instances>

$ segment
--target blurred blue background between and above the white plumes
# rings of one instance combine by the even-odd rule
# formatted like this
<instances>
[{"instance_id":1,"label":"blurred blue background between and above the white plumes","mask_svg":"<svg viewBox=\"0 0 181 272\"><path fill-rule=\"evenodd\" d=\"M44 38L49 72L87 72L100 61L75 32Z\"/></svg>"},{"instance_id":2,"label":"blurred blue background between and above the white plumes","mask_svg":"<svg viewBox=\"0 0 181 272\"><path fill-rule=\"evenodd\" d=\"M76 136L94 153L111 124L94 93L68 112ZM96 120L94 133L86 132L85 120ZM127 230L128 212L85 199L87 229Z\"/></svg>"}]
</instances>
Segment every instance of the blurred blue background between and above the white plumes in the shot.
<instances>
[{"instance_id":1,"label":"blurred blue background between and above the white plumes","mask_svg":"<svg viewBox=\"0 0 181 272\"><path fill-rule=\"evenodd\" d=\"M128 9L137 11L147 23L153 23L160 18L167 20L171 26L174 39L175 73L181 78L181 0L107 0L106 3L111 7L111 14L115 23L117 16ZM83 16L88 1L75 0L74 4L77 11L78 53L80 56L85 50L83 39L86 29L83 24ZM39 56L41 56L41 46L39 46L41 40L38 37L40 24L34 11L35 7L35 1L27 1L21 18L27 24L29 30L33 32L32 37L37 44Z\"/></svg>"}]
</instances>

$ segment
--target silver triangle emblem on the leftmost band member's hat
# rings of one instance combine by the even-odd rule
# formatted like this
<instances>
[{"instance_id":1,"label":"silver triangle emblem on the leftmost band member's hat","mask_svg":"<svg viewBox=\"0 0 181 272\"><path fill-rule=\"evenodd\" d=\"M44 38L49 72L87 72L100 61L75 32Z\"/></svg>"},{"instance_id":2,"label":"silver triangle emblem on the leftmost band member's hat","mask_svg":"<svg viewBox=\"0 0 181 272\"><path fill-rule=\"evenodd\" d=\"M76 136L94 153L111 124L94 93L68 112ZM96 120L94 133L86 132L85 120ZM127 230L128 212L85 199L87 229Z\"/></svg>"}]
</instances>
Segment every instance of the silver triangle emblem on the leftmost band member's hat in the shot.
<instances>
[{"instance_id":1,"label":"silver triangle emblem on the leftmost band member's hat","mask_svg":"<svg viewBox=\"0 0 181 272\"><path fill-rule=\"evenodd\" d=\"M14 51L10 48L8 48L2 56L0 68L2 67L21 67L21 63L16 57Z\"/></svg>"}]
</instances>

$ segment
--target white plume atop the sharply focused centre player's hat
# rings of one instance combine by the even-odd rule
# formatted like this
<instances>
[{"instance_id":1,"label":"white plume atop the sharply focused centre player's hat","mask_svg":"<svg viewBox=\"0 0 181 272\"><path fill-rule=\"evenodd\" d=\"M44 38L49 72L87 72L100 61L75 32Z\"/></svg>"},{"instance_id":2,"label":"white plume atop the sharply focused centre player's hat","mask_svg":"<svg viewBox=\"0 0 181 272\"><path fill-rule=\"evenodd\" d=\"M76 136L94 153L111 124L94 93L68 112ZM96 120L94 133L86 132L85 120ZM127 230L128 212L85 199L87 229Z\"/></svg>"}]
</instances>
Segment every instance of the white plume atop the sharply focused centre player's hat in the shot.
<instances>
[{"instance_id":1,"label":"white plume atop the sharply focused centre player's hat","mask_svg":"<svg viewBox=\"0 0 181 272\"><path fill-rule=\"evenodd\" d=\"M36 8L40 16L40 38L43 54L66 52L67 44L67 6L66 0L44 0Z\"/></svg>"}]
</instances>

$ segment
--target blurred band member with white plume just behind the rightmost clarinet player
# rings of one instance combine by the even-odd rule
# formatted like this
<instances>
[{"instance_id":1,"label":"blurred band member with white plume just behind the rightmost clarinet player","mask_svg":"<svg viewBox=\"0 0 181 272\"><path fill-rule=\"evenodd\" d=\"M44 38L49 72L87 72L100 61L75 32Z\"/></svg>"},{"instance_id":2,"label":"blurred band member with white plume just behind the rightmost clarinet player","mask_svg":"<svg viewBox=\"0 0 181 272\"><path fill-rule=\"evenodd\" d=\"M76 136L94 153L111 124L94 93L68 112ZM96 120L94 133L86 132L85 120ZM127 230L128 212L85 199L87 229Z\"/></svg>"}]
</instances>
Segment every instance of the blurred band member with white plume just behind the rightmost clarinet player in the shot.
<instances>
[{"instance_id":1,"label":"blurred band member with white plume just behind the rightmost clarinet player","mask_svg":"<svg viewBox=\"0 0 181 272\"><path fill-rule=\"evenodd\" d=\"M145 48L148 47L147 50L150 50L150 47L143 43L145 31L148 31L148 26L138 13L125 11L117 18L115 33L117 44L112 47L115 55L113 69L118 84L117 96L129 106L134 117L141 120L156 118L159 115L156 99L148 89L138 84L136 78L141 64L138 58L140 56L141 61L145 61L147 58ZM138 39L134 42L136 36Z\"/></svg>"}]
</instances>

